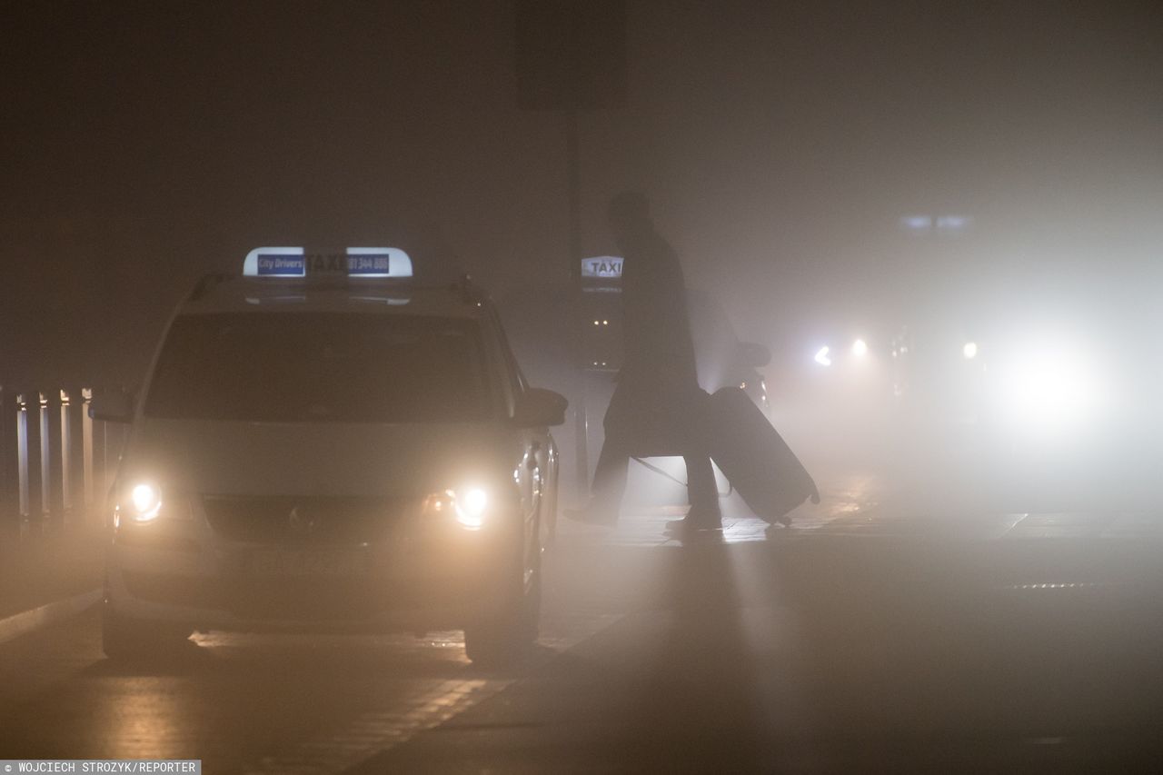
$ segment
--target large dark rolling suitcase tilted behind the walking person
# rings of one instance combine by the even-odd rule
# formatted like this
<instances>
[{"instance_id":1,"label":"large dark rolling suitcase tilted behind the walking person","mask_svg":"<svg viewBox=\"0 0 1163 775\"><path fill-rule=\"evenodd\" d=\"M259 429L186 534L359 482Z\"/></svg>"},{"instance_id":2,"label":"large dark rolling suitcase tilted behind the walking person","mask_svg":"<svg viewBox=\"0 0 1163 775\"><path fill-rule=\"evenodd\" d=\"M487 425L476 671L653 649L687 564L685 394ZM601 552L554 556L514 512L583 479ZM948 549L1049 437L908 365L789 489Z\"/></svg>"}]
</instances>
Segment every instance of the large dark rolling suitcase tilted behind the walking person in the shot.
<instances>
[{"instance_id":1,"label":"large dark rolling suitcase tilted behind the walking person","mask_svg":"<svg viewBox=\"0 0 1163 775\"><path fill-rule=\"evenodd\" d=\"M757 517L790 525L792 509L820 503L812 475L747 393L723 388L709 405L711 458Z\"/></svg>"}]
</instances>

